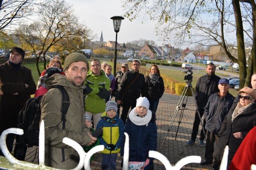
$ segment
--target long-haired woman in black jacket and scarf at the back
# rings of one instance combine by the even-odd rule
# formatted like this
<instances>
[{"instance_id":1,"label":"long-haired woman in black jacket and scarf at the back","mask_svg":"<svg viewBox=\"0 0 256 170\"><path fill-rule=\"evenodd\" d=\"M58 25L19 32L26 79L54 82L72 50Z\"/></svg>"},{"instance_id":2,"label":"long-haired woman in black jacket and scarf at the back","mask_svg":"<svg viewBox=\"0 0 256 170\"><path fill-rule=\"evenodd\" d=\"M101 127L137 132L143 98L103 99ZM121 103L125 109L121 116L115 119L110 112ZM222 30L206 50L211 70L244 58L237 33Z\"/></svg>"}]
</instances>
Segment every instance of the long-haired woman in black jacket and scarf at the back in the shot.
<instances>
[{"instance_id":1,"label":"long-haired woman in black jacket and scarf at the back","mask_svg":"<svg viewBox=\"0 0 256 170\"><path fill-rule=\"evenodd\" d=\"M157 65L153 64L150 68L150 73L145 78L146 86L146 98L149 101L149 109L152 114L156 114L156 109L158 107L159 99L164 94L164 80L160 76L160 71Z\"/></svg>"}]
</instances>

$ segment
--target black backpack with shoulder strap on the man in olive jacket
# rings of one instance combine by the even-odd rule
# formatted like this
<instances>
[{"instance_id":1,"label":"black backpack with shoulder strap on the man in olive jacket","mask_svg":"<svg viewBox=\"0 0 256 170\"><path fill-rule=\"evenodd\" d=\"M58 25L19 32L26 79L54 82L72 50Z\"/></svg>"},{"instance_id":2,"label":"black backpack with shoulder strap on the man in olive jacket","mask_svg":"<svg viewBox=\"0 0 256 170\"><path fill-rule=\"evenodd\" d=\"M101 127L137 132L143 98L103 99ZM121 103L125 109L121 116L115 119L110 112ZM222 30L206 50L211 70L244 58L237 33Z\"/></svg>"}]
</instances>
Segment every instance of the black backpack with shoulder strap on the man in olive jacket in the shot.
<instances>
[{"instance_id":1,"label":"black backpack with shoulder strap on the man in olive jacket","mask_svg":"<svg viewBox=\"0 0 256 170\"><path fill-rule=\"evenodd\" d=\"M70 105L68 92L63 86L53 86L62 93L62 129L65 129L66 113ZM39 145L39 124L41 120L40 103L42 96L30 98L18 114L18 127L23 129L24 134L19 136L19 145L28 145L28 147Z\"/></svg>"}]
</instances>

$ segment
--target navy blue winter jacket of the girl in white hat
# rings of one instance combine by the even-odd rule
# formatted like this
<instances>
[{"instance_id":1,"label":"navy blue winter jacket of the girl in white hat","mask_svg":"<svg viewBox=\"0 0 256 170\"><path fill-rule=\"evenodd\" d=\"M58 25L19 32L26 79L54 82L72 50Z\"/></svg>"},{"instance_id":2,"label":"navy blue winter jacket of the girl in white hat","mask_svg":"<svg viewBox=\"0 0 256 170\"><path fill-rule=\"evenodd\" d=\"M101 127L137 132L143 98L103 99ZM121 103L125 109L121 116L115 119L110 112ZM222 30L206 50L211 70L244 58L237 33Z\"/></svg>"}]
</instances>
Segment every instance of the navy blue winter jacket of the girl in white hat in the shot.
<instances>
[{"instance_id":1,"label":"navy blue winter jacket of the girl in white hat","mask_svg":"<svg viewBox=\"0 0 256 170\"><path fill-rule=\"evenodd\" d=\"M129 135L129 161L144 162L146 159L154 160L148 157L150 150L157 148L157 127L156 118L153 116L148 125L135 125L129 117L125 124L124 132ZM122 141L121 156L124 156L124 142Z\"/></svg>"}]
</instances>

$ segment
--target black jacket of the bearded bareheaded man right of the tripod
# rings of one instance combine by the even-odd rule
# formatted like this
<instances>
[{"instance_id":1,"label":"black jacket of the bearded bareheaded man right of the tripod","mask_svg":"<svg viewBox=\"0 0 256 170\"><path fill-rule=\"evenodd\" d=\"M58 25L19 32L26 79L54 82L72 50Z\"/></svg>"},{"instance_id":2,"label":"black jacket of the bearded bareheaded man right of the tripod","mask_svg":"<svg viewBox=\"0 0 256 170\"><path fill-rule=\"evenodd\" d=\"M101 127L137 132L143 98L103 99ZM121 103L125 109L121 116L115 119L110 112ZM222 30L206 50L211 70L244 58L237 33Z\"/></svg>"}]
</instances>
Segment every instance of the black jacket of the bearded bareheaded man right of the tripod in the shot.
<instances>
[{"instance_id":1,"label":"black jacket of the bearded bareheaded man right of the tripod","mask_svg":"<svg viewBox=\"0 0 256 170\"><path fill-rule=\"evenodd\" d=\"M196 83L195 98L198 108L204 109L209 97L219 92L218 84L220 77L215 74L209 77L207 74L201 76Z\"/></svg>"}]
</instances>

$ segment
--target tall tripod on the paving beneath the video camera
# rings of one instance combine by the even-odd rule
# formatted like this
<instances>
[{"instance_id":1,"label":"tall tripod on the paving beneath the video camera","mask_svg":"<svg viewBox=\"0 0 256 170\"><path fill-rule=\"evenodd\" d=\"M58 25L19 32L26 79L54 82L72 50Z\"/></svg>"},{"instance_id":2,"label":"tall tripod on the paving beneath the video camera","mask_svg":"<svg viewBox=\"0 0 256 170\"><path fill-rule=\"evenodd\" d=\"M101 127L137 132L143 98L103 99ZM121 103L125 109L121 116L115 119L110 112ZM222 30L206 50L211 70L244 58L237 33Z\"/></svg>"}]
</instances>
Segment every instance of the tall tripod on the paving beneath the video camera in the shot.
<instances>
[{"instance_id":1,"label":"tall tripod on the paving beneath the video camera","mask_svg":"<svg viewBox=\"0 0 256 170\"><path fill-rule=\"evenodd\" d=\"M173 122L174 122L174 119L175 119L175 117L176 117L178 111L181 110L180 118L179 118L179 121L178 121L178 128L177 128L176 135L175 135L175 140L176 140L176 137L177 137L177 134L178 134L178 129L179 129L179 127L180 127L180 123L181 123L181 120L182 120L183 112L184 112L184 110L186 109L186 103L187 103L187 101L188 101L188 96L187 96L186 102L183 103L183 102L184 102L184 98L185 98L185 96L186 96L186 92L187 92L188 90L191 90L191 92L192 92L192 96L193 96L193 99L194 99L194 102L195 102L195 105L196 105L196 112L198 113L198 116L199 116L199 118L200 118L201 125L202 125L202 127L203 127L203 123L202 123L202 120L201 120L200 113L199 113L199 111L198 111L198 106L197 106L197 103L196 103L196 98L195 98L195 96L194 96L194 92L193 92L193 88L192 88L191 82L192 82L192 80L186 81L187 84L186 84L186 86L185 86L185 88L184 88L184 90L183 90L183 92L182 92L182 95L181 95L181 97L180 97L180 100L179 100L179 102L178 102L178 104L177 104L177 106L176 106L176 110L175 110L174 115L173 115L173 117L172 117L172 121L171 121L171 123L170 123L170 125L169 125L169 127L168 127L168 131L167 131L167 134L166 134L166 136L165 136L165 138L164 138L164 142L165 142L165 140L166 140L166 138L167 138L167 136L168 136L168 133L169 133L170 129L172 128L172 124L173 124ZM182 107L182 108L180 108L180 107ZM202 128L202 129L203 129L203 131L204 131L204 128ZM206 136L205 131L204 131L204 135ZM164 142L163 142L163 144L162 144L162 146L161 146L159 152L161 152L162 147L164 146Z\"/></svg>"}]
</instances>

